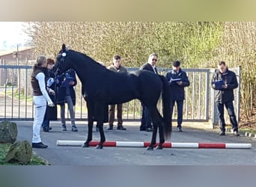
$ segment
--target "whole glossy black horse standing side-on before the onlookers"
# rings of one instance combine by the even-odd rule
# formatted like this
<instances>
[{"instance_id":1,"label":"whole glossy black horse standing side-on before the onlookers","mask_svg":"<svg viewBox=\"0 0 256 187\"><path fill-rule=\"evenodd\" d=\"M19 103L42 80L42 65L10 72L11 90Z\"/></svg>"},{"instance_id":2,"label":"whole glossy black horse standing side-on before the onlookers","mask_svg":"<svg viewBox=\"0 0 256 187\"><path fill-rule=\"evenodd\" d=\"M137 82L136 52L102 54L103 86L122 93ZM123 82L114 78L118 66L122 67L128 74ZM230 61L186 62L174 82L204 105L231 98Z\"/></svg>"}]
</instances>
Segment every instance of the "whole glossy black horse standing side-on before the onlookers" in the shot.
<instances>
[{"instance_id":1,"label":"whole glossy black horse standing side-on before the onlookers","mask_svg":"<svg viewBox=\"0 0 256 187\"><path fill-rule=\"evenodd\" d=\"M97 61L81 52L69 50L63 44L56 58L56 69L63 73L72 68L82 82L82 91L88 107L88 138L82 147L89 147L92 140L94 119L100 131L100 142L97 148L102 149L106 141L103 132L106 106L139 99L150 111L153 121L153 135L147 150L156 146L156 132L159 128L159 144L162 149L165 139L171 136L171 99L170 88L164 76L147 70L130 73L115 73L103 67ZM117 86L118 85L118 86ZM163 117L156 108L162 92Z\"/></svg>"}]
</instances>

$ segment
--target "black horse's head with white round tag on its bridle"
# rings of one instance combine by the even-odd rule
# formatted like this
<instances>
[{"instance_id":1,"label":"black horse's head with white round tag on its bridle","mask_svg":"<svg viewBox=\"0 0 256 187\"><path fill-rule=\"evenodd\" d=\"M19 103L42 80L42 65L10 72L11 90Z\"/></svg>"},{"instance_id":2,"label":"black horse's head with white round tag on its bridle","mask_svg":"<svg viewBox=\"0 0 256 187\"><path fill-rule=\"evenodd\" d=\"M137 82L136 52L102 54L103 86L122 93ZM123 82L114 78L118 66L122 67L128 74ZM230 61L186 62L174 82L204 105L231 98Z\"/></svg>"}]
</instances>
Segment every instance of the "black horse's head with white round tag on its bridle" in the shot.
<instances>
[{"instance_id":1,"label":"black horse's head with white round tag on its bridle","mask_svg":"<svg viewBox=\"0 0 256 187\"><path fill-rule=\"evenodd\" d=\"M65 46L65 44L62 45L62 49L60 52L58 52L56 62L55 62L55 74L61 74L67 71L68 69L72 68L70 67L69 63L70 57L69 57L69 49Z\"/></svg>"}]
</instances>

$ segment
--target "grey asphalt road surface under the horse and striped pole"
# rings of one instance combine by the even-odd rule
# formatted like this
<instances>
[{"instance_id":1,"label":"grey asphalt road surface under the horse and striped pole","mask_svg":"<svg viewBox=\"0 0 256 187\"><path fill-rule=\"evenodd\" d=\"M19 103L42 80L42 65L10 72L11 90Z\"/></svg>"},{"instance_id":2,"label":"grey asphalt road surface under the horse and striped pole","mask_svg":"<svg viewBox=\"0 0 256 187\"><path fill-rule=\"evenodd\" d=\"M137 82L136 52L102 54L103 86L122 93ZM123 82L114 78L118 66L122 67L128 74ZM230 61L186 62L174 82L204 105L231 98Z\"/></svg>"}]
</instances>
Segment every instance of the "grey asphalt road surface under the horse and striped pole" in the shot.
<instances>
[{"instance_id":1,"label":"grey asphalt road surface under the horse and striped pole","mask_svg":"<svg viewBox=\"0 0 256 187\"><path fill-rule=\"evenodd\" d=\"M16 121L18 141L31 142L32 122ZM145 148L103 147L60 147L57 140L85 141L87 126L77 122L79 132L71 132L67 123L67 132L61 131L58 121L52 121L51 132L41 132L41 138L47 149L33 149L34 153L46 159L50 165L256 165L256 139L244 135L234 137L231 133L219 136L216 129L209 129L199 123L183 126L183 132L174 128L171 142L186 143L245 143L252 149L193 149L165 148L163 150L145 150ZM105 127L107 125L104 125ZM152 132L140 132L139 123L124 122L127 131L105 130L106 141L150 141ZM115 126L116 128L116 126ZM99 132L93 133L93 141L99 141Z\"/></svg>"}]
</instances>

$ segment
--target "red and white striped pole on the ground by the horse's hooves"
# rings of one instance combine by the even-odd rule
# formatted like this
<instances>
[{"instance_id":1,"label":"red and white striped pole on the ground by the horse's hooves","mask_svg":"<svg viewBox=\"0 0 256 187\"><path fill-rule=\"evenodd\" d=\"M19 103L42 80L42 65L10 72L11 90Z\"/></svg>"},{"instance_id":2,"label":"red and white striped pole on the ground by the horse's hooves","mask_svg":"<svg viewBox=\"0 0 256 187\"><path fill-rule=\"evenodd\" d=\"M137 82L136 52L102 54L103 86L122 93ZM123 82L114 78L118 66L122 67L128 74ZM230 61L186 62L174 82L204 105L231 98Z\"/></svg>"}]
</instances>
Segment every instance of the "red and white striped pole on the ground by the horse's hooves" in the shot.
<instances>
[{"instance_id":1,"label":"red and white striped pole on the ground by the horse's hooves","mask_svg":"<svg viewBox=\"0 0 256 187\"><path fill-rule=\"evenodd\" d=\"M64 141L58 140L57 146L82 146L85 141ZM90 146L94 147L99 141L91 141ZM103 147L147 147L150 142L143 141L105 141ZM156 147L158 143L154 145ZM225 144L225 143L164 143L164 148L198 148L198 149L251 149L252 144Z\"/></svg>"}]
</instances>

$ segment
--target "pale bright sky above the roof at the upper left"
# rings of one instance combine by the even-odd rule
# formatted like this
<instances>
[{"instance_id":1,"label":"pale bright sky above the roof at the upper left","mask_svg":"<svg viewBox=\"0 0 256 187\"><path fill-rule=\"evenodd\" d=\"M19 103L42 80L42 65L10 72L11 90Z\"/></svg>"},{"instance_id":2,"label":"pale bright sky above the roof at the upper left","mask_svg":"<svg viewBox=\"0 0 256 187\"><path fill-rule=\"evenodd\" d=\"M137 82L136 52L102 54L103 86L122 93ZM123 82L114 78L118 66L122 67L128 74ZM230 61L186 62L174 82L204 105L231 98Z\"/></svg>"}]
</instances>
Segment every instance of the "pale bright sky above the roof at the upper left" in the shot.
<instances>
[{"instance_id":1,"label":"pale bright sky above the roof at the upper left","mask_svg":"<svg viewBox=\"0 0 256 187\"><path fill-rule=\"evenodd\" d=\"M29 37L22 29L24 22L0 22L0 51L24 46Z\"/></svg>"}]
</instances>

